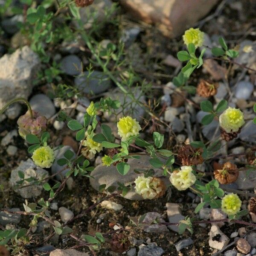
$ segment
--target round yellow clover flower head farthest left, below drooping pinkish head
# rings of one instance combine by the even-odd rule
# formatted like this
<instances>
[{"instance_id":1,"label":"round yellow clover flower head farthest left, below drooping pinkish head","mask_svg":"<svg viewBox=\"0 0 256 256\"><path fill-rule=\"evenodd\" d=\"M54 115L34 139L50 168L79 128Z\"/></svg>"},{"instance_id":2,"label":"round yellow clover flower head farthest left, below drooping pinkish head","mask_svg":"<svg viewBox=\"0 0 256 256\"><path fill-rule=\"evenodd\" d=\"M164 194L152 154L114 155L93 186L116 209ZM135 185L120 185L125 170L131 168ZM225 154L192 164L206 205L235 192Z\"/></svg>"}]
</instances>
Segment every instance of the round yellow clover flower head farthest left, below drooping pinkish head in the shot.
<instances>
[{"instance_id":1,"label":"round yellow clover flower head farthest left, below drooping pinkish head","mask_svg":"<svg viewBox=\"0 0 256 256\"><path fill-rule=\"evenodd\" d=\"M32 160L41 168L50 168L55 160L54 152L49 146L42 146L33 152Z\"/></svg>"}]
</instances>

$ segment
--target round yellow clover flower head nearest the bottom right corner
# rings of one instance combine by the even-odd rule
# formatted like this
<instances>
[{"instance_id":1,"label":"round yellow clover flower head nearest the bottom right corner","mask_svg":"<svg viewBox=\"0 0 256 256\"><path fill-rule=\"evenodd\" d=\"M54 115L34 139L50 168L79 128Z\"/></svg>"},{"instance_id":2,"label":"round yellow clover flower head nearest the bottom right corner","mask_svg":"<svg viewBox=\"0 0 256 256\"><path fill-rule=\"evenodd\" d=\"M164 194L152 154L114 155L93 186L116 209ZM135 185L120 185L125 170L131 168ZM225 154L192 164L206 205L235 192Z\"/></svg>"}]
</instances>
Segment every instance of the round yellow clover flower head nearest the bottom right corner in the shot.
<instances>
[{"instance_id":1,"label":"round yellow clover flower head nearest the bottom right corner","mask_svg":"<svg viewBox=\"0 0 256 256\"><path fill-rule=\"evenodd\" d=\"M241 200L236 194L225 195L221 200L221 209L223 212L227 213L227 215L234 215L240 211L241 208Z\"/></svg>"}]
</instances>

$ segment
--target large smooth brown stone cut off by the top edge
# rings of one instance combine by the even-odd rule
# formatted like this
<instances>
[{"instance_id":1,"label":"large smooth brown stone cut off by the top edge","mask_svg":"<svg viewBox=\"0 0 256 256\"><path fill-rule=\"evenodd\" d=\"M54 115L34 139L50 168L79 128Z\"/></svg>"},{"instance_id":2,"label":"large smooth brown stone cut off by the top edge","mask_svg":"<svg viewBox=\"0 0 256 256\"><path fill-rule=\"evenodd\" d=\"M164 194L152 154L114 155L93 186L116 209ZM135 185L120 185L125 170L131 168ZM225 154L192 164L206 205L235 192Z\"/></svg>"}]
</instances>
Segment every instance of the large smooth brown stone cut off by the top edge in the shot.
<instances>
[{"instance_id":1,"label":"large smooth brown stone cut off by the top edge","mask_svg":"<svg viewBox=\"0 0 256 256\"><path fill-rule=\"evenodd\" d=\"M175 37L195 25L218 0L119 0L135 18L156 24L164 35Z\"/></svg>"}]
</instances>

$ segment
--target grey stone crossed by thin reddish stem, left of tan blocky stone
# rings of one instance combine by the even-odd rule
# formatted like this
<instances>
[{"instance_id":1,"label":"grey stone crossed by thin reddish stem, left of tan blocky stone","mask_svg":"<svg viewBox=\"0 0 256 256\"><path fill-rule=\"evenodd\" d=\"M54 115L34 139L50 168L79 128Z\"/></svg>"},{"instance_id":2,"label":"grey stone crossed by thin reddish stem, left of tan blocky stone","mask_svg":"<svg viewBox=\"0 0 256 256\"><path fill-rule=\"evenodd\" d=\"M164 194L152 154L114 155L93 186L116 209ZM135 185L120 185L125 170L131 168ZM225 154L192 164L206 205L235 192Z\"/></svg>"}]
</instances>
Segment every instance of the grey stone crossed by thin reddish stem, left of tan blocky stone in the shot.
<instances>
[{"instance_id":1,"label":"grey stone crossed by thin reddish stem, left of tan blocky stone","mask_svg":"<svg viewBox=\"0 0 256 256\"><path fill-rule=\"evenodd\" d=\"M158 212L148 212L143 220L145 223L151 223L151 221L158 219L160 222L165 222ZM168 232L166 225L161 224L151 224L144 226L143 230L148 233L165 233Z\"/></svg>"}]
</instances>

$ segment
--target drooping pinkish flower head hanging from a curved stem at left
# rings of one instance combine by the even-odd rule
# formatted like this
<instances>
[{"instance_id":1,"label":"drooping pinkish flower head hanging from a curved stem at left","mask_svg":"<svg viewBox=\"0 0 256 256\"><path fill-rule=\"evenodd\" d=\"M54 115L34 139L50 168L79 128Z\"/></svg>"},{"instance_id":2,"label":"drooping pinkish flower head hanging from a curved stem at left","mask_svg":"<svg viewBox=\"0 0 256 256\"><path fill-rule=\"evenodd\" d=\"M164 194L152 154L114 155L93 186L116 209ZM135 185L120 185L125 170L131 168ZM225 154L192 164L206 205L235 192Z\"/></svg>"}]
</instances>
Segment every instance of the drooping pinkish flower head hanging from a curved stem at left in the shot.
<instances>
[{"instance_id":1,"label":"drooping pinkish flower head hanging from a curved stem at left","mask_svg":"<svg viewBox=\"0 0 256 256\"><path fill-rule=\"evenodd\" d=\"M33 118L31 118L29 111L25 115L20 116L17 120L17 125L19 127L19 134L23 139L26 138L28 134L34 134L38 137L46 131L47 119L45 116L39 116L35 111L32 111Z\"/></svg>"}]
</instances>

